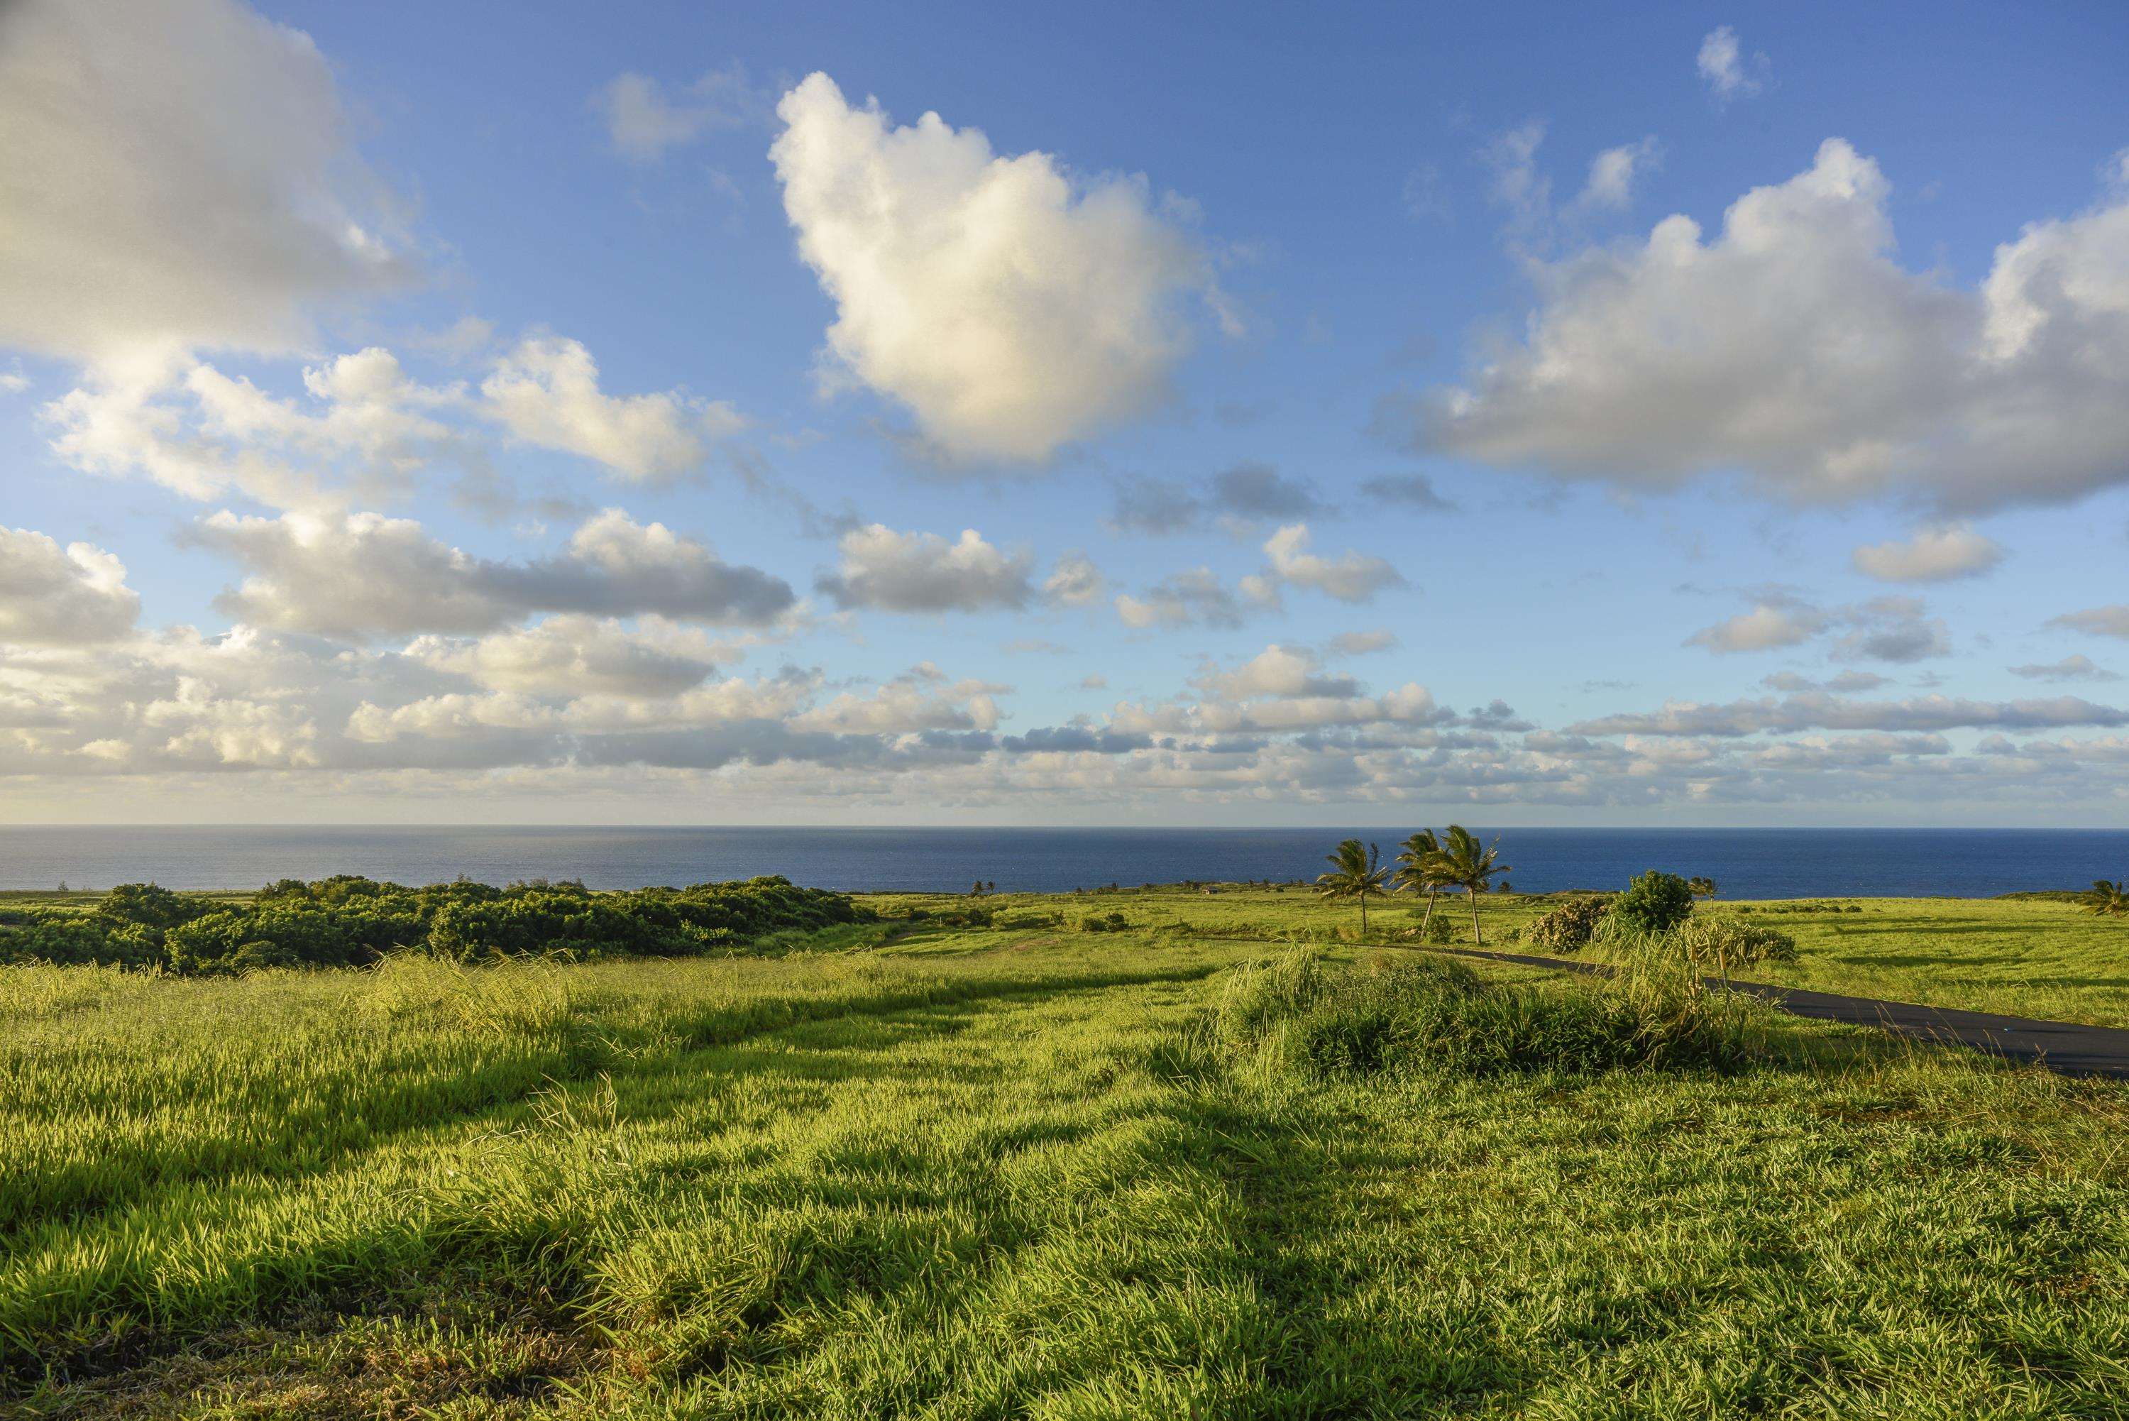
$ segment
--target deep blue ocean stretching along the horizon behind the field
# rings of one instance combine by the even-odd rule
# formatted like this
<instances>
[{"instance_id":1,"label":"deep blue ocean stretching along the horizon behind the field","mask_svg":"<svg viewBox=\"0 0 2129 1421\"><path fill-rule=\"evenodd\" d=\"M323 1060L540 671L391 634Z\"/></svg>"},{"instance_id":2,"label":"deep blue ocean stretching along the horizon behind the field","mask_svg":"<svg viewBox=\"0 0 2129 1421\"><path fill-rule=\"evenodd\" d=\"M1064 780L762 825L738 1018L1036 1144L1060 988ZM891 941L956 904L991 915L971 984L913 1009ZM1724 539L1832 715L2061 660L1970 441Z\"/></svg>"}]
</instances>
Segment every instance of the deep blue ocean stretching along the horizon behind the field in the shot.
<instances>
[{"instance_id":1,"label":"deep blue ocean stretching along the horizon behind the field","mask_svg":"<svg viewBox=\"0 0 2129 1421\"><path fill-rule=\"evenodd\" d=\"M1358 831L1394 854L1392 831ZM1060 891L1309 878L1337 829L0 829L0 888L255 888L366 873L594 888L783 873L822 888ZM2129 876L2118 829L1507 829L1524 893L1705 873L1722 897L1988 897Z\"/></svg>"}]
</instances>

